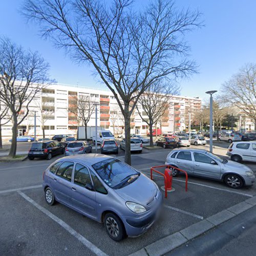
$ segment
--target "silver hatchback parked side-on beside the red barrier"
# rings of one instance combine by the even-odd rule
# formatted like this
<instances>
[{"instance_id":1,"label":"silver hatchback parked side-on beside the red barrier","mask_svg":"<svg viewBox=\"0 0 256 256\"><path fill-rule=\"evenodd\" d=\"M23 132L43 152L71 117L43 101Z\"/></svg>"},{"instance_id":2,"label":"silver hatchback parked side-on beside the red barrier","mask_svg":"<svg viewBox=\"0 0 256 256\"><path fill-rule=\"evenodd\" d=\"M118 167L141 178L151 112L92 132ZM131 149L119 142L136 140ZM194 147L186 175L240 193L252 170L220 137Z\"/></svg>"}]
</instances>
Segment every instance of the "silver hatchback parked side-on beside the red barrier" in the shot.
<instances>
[{"instance_id":1,"label":"silver hatchback parked side-on beside the red barrier","mask_svg":"<svg viewBox=\"0 0 256 256\"><path fill-rule=\"evenodd\" d=\"M166 158L170 164L187 172L188 175L223 181L231 188L251 186L255 182L252 170L240 163L222 159L206 150L175 149ZM172 168L173 176L179 171Z\"/></svg>"}]
</instances>

